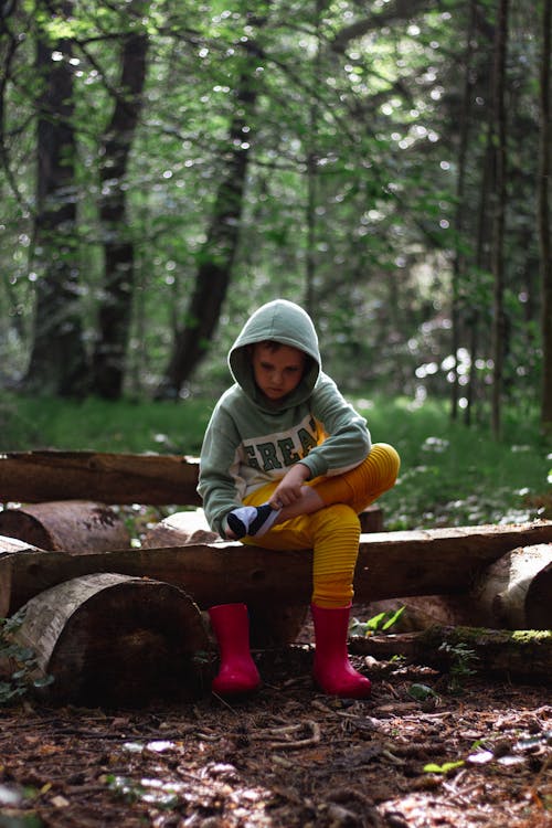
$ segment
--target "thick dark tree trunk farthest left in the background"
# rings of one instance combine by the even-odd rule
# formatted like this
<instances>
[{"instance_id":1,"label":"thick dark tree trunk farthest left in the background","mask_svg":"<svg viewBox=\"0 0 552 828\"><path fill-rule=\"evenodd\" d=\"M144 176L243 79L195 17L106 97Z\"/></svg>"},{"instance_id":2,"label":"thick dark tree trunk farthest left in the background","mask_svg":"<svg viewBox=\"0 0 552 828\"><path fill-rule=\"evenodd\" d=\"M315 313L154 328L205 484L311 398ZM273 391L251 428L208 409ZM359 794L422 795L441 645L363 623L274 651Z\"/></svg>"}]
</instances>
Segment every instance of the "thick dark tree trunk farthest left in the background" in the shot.
<instances>
[{"instance_id":1,"label":"thick dark tree trunk farthest left in the background","mask_svg":"<svg viewBox=\"0 0 552 828\"><path fill-rule=\"evenodd\" d=\"M72 13L68 0L49 6L47 17ZM52 60L55 52L60 60ZM85 391L86 355L78 299L76 236L76 141L71 42L55 45L39 34L36 74L38 173L34 257L39 274L34 339L24 386L62 396Z\"/></svg>"}]
</instances>

